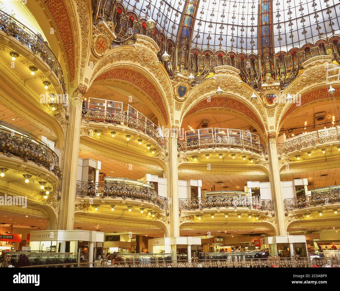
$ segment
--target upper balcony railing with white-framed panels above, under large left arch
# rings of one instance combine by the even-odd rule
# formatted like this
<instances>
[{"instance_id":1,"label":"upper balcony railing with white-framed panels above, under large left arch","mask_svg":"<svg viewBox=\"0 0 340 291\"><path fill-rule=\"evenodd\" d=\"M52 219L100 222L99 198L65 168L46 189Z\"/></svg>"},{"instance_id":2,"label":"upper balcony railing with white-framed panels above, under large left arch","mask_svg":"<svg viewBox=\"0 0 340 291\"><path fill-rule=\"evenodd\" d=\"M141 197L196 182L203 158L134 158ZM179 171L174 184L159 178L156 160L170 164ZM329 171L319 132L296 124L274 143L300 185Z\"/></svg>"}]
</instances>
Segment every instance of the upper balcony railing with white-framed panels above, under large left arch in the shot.
<instances>
[{"instance_id":1,"label":"upper balcony railing with white-framed panels above, under large left arch","mask_svg":"<svg viewBox=\"0 0 340 291\"><path fill-rule=\"evenodd\" d=\"M166 142L157 131L157 126L148 118L143 116L132 106L128 105L128 110L122 111L122 102L89 98L82 112L82 118L86 122L96 122L112 124L114 129L124 130L124 127L143 133L152 138L160 148L165 150ZM98 103L97 103L98 102Z\"/></svg>"}]
</instances>

